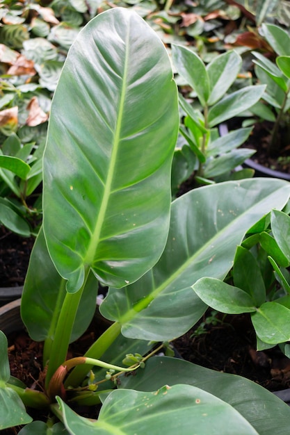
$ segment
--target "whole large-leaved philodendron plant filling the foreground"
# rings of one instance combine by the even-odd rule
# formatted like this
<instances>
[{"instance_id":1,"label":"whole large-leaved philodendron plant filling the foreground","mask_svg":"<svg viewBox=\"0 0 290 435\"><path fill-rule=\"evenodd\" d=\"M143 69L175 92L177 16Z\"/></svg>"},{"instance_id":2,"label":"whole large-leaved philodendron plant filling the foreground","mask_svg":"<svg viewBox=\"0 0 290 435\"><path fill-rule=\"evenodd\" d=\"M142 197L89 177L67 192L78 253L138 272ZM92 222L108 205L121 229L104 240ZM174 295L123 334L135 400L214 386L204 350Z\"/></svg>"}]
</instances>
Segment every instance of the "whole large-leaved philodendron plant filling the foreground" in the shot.
<instances>
[{"instance_id":1,"label":"whole large-leaved philodendron plant filling the foreground","mask_svg":"<svg viewBox=\"0 0 290 435\"><path fill-rule=\"evenodd\" d=\"M282 209L290 194L286 181L247 179L198 188L170 204L178 124L177 87L154 31L122 8L92 19L70 49L52 102L44 219L22 297L24 324L44 341L45 380L36 391L10 377L1 333L0 429L288 430L289 407L251 381L170 356L150 358L160 347L170 350L168 341L207 309L191 286L204 276L225 278L248 228ZM95 313L99 282L109 287L100 311L110 326L86 354L69 358L69 344ZM76 413L101 402L98 416ZM32 408L43 409L47 421L32 422Z\"/></svg>"}]
</instances>

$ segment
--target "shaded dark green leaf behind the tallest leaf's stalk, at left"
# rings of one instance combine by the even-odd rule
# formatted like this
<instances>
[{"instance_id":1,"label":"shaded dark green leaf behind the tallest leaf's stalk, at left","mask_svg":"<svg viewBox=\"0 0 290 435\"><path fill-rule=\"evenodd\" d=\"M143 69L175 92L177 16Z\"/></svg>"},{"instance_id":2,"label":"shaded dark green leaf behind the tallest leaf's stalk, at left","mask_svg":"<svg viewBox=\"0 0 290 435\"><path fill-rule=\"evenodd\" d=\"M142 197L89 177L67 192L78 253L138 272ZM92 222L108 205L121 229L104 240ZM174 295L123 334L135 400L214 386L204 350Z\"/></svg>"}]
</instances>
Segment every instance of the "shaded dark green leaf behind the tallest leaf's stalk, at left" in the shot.
<instances>
[{"instance_id":1,"label":"shaded dark green leaf behind the tallest leaf's stalk, at left","mask_svg":"<svg viewBox=\"0 0 290 435\"><path fill-rule=\"evenodd\" d=\"M90 273L76 313L70 341L86 331L95 313L98 283ZM47 252L42 229L38 233L22 293L21 315L33 340L53 339L65 299L65 280L58 274Z\"/></svg>"}]
</instances>

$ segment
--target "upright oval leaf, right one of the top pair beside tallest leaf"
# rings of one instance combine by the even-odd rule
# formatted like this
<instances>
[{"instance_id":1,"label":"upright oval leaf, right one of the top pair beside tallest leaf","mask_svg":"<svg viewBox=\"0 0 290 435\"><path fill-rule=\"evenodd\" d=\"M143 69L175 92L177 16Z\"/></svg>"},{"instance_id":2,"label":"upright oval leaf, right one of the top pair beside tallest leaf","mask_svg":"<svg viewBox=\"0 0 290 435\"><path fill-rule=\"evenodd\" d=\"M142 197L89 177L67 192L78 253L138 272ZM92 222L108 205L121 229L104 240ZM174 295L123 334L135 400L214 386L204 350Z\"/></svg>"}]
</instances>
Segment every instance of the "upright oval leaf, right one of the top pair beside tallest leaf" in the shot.
<instances>
[{"instance_id":1,"label":"upright oval leaf, right one of the top pair beside tallest leaf","mask_svg":"<svg viewBox=\"0 0 290 435\"><path fill-rule=\"evenodd\" d=\"M232 85L241 68L242 59L236 51L226 51L207 65L211 85L208 104L216 103Z\"/></svg>"}]
</instances>

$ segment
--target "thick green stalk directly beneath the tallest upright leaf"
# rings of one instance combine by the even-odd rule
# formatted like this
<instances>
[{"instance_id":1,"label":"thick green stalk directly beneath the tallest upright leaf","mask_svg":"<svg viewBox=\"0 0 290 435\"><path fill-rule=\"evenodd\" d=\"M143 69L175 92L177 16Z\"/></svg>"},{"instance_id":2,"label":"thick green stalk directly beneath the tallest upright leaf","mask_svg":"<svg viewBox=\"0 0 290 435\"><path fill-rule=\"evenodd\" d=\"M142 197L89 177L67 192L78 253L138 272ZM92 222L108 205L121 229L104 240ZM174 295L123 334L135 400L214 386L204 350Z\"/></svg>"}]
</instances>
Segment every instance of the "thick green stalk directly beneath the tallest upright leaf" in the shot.
<instances>
[{"instance_id":1,"label":"thick green stalk directly beneath the tallest upright leaf","mask_svg":"<svg viewBox=\"0 0 290 435\"><path fill-rule=\"evenodd\" d=\"M79 308L79 302L81 300L81 295L83 294L83 288L86 286L89 272L90 268L87 268L83 286L79 291L76 293L67 293L65 295L65 300L63 302L63 306L61 307L61 313L58 317L58 322L56 325L54 340L50 347L47 377L45 379L46 388L49 386L49 381L54 375L54 372L66 359L67 349L70 344L70 337L72 335L72 328L74 326L74 320L76 317L76 311Z\"/></svg>"}]
</instances>

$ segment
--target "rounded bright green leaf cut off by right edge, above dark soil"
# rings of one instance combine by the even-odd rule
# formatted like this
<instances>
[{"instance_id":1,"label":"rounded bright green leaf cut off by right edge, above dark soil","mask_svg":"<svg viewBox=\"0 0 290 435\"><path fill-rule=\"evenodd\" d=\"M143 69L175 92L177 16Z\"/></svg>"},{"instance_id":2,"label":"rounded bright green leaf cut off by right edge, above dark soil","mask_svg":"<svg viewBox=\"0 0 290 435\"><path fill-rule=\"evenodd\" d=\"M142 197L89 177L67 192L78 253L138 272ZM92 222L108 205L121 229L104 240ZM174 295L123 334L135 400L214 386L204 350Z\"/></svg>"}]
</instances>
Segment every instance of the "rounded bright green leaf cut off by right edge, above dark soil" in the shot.
<instances>
[{"instance_id":1,"label":"rounded bright green leaf cut off by right edge, above dark soil","mask_svg":"<svg viewBox=\"0 0 290 435\"><path fill-rule=\"evenodd\" d=\"M276 345L290 340L290 309L277 302L265 302L252 314L257 336L265 343Z\"/></svg>"}]
</instances>

